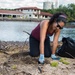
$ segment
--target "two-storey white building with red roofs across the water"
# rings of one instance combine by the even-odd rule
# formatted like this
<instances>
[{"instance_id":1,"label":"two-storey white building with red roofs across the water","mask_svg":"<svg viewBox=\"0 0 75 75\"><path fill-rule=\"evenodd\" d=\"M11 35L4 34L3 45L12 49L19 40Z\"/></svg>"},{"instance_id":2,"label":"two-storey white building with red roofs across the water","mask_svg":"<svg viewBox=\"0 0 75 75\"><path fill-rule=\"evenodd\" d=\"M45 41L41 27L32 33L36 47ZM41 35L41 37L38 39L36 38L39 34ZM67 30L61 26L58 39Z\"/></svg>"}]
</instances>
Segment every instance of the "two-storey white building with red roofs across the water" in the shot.
<instances>
[{"instance_id":1,"label":"two-storey white building with red roofs across the water","mask_svg":"<svg viewBox=\"0 0 75 75\"><path fill-rule=\"evenodd\" d=\"M37 7L22 7L15 10L22 12L25 19L49 19L52 16L50 13L41 12Z\"/></svg>"}]
</instances>

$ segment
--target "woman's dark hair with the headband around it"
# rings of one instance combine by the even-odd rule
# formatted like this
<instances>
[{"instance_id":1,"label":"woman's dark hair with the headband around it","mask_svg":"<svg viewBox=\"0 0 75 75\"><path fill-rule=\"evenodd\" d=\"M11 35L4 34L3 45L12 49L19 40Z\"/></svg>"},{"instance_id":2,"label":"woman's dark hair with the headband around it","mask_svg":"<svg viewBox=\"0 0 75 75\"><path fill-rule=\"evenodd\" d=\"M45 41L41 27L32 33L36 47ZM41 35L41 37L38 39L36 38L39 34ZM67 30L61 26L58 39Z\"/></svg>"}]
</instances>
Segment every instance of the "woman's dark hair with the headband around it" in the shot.
<instances>
[{"instance_id":1,"label":"woman's dark hair with the headband around it","mask_svg":"<svg viewBox=\"0 0 75 75\"><path fill-rule=\"evenodd\" d=\"M66 18L67 16L64 13L56 13L50 18L49 25L52 25L53 22L60 22L60 21L66 23Z\"/></svg>"}]
</instances>

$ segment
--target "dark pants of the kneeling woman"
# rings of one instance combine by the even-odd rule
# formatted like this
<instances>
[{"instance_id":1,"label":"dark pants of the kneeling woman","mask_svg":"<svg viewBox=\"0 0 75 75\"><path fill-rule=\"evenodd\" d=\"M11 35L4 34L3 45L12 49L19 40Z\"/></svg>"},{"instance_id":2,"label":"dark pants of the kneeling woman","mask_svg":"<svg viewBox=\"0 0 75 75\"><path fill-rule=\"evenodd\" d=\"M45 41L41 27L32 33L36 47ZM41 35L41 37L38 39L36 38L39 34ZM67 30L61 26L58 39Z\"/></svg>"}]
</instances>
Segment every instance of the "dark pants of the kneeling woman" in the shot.
<instances>
[{"instance_id":1,"label":"dark pants of the kneeling woman","mask_svg":"<svg viewBox=\"0 0 75 75\"><path fill-rule=\"evenodd\" d=\"M30 43L30 56L37 57L40 55L40 49L39 45L40 42L36 40L34 37L30 36L29 38L29 43ZM45 57L50 57L51 56L51 47L50 47L50 39L47 36L44 42L44 55Z\"/></svg>"}]
</instances>

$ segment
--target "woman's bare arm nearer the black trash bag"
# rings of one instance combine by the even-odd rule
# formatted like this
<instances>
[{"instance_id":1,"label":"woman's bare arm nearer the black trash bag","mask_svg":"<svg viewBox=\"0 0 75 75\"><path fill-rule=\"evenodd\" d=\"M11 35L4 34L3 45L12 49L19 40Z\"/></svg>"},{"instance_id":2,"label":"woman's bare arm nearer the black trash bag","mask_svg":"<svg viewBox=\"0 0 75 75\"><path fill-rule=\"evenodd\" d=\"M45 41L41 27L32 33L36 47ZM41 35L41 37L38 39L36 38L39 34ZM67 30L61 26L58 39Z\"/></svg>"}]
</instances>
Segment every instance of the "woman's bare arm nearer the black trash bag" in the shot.
<instances>
[{"instance_id":1,"label":"woman's bare arm nearer the black trash bag","mask_svg":"<svg viewBox=\"0 0 75 75\"><path fill-rule=\"evenodd\" d=\"M60 35L60 29L58 29L54 34L53 46L52 46L52 54L55 54L57 46L58 46L58 38Z\"/></svg>"}]
</instances>

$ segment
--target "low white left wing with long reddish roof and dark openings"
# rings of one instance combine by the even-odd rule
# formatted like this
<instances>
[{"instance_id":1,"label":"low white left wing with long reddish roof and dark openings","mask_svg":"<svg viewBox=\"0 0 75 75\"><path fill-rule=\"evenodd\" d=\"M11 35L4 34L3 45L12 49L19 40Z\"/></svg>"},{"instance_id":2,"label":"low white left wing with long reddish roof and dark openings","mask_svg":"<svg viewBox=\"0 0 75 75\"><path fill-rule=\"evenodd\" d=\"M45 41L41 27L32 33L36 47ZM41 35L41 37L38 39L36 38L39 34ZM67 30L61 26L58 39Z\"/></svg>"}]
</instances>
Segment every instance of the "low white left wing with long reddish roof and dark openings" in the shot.
<instances>
[{"instance_id":1,"label":"low white left wing with long reddish roof and dark openings","mask_svg":"<svg viewBox=\"0 0 75 75\"><path fill-rule=\"evenodd\" d=\"M22 12L12 10L1 10L0 19L21 19L23 16Z\"/></svg>"}]
</instances>

